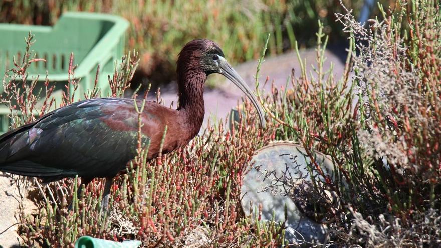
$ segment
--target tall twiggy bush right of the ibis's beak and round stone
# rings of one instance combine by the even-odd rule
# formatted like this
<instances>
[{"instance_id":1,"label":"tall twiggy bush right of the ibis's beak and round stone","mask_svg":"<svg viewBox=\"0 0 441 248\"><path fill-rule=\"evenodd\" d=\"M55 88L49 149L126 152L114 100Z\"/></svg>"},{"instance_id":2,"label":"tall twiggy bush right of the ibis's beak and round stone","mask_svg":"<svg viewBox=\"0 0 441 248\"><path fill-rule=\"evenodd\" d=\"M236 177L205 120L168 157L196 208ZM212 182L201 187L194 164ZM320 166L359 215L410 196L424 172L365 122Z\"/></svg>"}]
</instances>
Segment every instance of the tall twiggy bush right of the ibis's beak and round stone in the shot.
<instances>
[{"instance_id":1,"label":"tall twiggy bush right of the ibis's beak and round stone","mask_svg":"<svg viewBox=\"0 0 441 248\"><path fill-rule=\"evenodd\" d=\"M279 125L278 139L298 141L312 161L314 149L332 159L334 178L315 178L309 196L323 204L320 216L330 227L332 242L438 246L439 2L397 2L394 9L379 9L382 15L369 20L368 28L351 11L337 14L350 36L339 80L332 67L323 70L327 38L322 42L320 29L313 73L308 75L301 63L300 76L293 72L292 88L274 89L266 111ZM314 162L310 167L322 174ZM334 191L337 200L325 190ZM318 196L323 199L317 201Z\"/></svg>"}]
</instances>

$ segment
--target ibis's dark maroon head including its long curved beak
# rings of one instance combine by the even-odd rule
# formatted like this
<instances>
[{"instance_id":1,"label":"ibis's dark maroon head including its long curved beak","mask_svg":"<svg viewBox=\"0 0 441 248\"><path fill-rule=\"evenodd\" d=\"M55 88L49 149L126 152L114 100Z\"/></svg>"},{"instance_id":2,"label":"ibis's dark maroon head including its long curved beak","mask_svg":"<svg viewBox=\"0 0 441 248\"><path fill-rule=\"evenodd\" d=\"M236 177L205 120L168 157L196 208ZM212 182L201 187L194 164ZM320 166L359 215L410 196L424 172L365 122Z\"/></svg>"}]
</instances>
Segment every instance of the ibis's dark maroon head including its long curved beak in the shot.
<instances>
[{"instance_id":1,"label":"ibis's dark maroon head including its long curved beak","mask_svg":"<svg viewBox=\"0 0 441 248\"><path fill-rule=\"evenodd\" d=\"M178 75L183 75L181 70L188 70L190 68L202 70L206 75L219 73L232 81L253 103L259 114L260 124L265 128L264 114L253 91L228 63L219 45L207 39L196 39L187 43L179 53L177 73Z\"/></svg>"}]
</instances>

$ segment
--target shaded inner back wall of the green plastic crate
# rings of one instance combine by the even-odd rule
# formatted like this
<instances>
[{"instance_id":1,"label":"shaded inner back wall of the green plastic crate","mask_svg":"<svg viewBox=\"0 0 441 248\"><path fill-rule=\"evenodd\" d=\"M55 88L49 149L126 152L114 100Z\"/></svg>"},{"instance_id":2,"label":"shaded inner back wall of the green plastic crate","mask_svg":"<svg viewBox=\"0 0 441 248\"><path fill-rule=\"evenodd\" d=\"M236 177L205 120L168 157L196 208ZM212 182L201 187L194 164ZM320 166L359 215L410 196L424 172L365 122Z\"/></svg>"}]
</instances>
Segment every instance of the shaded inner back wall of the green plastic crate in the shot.
<instances>
[{"instance_id":1,"label":"shaded inner back wall of the green plastic crate","mask_svg":"<svg viewBox=\"0 0 441 248\"><path fill-rule=\"evenodd\" d=\"M46 70L50 75L67 73L70 54L74 53L74 65L79 64L114 24L109 20L63 15L54 27L17 24L0 26L0 68L11 68L13 56L16 60L21 58L25 48L23 39L32 31L37 41L32 50L37 58L45 59L46 62L34 63L28 72L42 76Z\"/></svg>"}]
</instances>

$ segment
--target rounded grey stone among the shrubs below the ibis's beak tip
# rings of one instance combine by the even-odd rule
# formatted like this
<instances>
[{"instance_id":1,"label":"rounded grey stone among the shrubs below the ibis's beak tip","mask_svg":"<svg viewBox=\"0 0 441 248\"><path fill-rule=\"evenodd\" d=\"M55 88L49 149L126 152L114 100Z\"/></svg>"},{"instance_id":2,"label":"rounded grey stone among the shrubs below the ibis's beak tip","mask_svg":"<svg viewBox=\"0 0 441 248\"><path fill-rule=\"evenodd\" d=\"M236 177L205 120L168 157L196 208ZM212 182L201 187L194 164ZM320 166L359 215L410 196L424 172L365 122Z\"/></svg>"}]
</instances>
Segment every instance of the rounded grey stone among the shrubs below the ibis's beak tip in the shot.
<instances>
[{"instance_id":1,"label":"rounded grey stone among the shrubs below the ibis's beak tip","mask_svg":"<svg viewBox=\"0 0 441 248\"><path fill-rule=\"evenodd\" d=\"M332 161L318 152L316 161L323 172L332 178ZM262 220L271 221L274 212L275 221L282 223L285 221L286 205L285 238L289 243L305 247L311 243L323 243L327 232L325 225L306 214L310 204L304 201L306 198L302 193L311 189L311 177L307 168L310 162L305 149L300 145L288 142L268 145L258 150L253 157L251 169L244 176L241 189L244 195L241 204L247 215L255 212L261 204ZM313 172L313 176L319 175ZM299 188L304 190L298 190Z\"/></svg>"}]
</instances>

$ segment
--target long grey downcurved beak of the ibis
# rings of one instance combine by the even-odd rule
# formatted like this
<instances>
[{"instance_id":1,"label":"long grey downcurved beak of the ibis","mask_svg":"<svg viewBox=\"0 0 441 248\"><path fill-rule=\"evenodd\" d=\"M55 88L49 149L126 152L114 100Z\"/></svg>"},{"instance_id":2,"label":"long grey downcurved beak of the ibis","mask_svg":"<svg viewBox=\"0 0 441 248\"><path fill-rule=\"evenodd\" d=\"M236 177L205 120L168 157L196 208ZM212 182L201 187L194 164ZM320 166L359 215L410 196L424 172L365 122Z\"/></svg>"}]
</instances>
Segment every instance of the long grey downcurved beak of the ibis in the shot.
<instances>
[{"instance_id":1,"label":"long grey downcurved beak of the ibis","mask_svg":"<svg viewBox=\"0 0 441 248\"><path fill-rule=\"evenodd\" d=\"M250 101L253 103L254 107L257 110L257 113L259 114L260 119L260 125L262 128L265 128L266 122L264 118L264 112L262 111L259 103L256 100L256 97L253 95L253 91L248 87L248 85L245 83L245 81L239 76L239 74L233 69L233 67L227 62L226 59L222 58L219 67L222 69L220 74L224 75L226 78L228 78L230 81L232 81L242 92L245 93L245 95L250 99Z\"/></svg>"}]
</instances>

